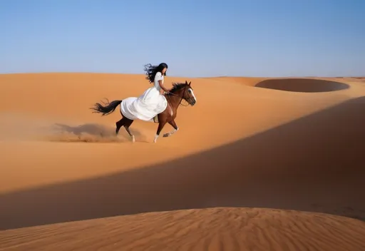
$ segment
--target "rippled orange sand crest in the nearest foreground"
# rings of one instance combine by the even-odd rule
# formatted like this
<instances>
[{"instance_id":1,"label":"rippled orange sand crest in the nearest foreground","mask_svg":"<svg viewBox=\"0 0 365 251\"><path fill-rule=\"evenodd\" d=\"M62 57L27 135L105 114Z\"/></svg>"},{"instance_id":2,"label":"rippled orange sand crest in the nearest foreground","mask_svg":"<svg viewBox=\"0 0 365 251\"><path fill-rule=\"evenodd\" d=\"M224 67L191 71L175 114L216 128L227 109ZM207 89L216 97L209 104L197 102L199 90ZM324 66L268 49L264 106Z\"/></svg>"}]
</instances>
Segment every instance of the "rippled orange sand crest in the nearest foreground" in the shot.
<instances>
[{"instance_id":1,"label":"rippled orange sand crest in the nearest foreground","mask_svg":"<svg viewBox=\"0 0 365 251\"><path fill-rule=\"evenodd\" d=\"M365 249L365 223L264 208L150 212L0 232L1 250ZM82 240L82 241L81 241Z\"/></svg>"}]
</instances>

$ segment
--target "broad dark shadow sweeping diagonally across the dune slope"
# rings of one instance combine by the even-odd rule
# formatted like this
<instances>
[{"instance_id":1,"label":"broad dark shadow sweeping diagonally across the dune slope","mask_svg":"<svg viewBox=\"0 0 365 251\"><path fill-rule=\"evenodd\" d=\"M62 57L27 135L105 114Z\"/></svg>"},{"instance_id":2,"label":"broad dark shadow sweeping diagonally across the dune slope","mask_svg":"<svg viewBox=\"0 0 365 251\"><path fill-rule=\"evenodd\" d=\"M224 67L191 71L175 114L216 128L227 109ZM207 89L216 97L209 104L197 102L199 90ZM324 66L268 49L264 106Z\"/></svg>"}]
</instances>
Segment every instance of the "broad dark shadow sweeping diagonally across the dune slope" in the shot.
<instances>
[{"instance_id":1,"label":"broad dark shadow sweeping diagonally across the dune slope","mask_svg":"<svg viewBox=\"0 0 365 251\"><path fill-rule=\"evenodd\" d=\"M356 98L187 158L1 195L0 228L226 206L365 219L364 111Z\"/></svg>"}]
</instances>

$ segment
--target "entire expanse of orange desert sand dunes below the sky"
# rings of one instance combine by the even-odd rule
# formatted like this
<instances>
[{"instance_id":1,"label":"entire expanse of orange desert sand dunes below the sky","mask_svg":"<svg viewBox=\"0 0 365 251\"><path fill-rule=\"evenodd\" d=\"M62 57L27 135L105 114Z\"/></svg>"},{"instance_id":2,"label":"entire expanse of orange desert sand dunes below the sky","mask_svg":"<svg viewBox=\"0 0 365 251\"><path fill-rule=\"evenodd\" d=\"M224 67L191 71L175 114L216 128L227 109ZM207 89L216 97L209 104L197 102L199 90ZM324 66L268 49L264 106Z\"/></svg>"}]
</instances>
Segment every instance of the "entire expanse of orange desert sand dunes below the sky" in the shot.
<instances>
[{"instance_id":1,"label":"entire expanse of orange desert sand dunes below the sky","mask_svg":"<svg viewBox=\"0 0 365 251\"><path fill-rule=\"evenodd\" d=\"M132 143L88 108L145 76L0 75L0 250L365 250L364 78L185 80Z\"/></svg>"}]
</instances>

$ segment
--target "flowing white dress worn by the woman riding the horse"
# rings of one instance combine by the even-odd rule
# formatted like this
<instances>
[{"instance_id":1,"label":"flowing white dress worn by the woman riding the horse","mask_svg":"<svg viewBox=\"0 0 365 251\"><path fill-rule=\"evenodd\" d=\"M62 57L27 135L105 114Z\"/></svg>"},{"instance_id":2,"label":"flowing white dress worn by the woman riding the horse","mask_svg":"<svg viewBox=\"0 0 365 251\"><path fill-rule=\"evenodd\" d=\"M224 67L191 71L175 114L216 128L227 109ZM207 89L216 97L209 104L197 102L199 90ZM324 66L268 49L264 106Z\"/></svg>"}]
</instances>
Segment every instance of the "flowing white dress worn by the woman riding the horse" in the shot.
<instances>
[{"instance_id":1,"label":"flowing white dress worn by the woman riding the horse","mask_svg":"<svg viewBox=\"0 0 365 251\"><path fill-rule=\"evenodd\" d=\"M148 88L141 96L125 98L120 104L123 116L131 120L151 121L158 113L165 111L168 101L160 94L159 80L164 81L160 72L156 73L153 87Z\"/></svg>"}]
</instances>

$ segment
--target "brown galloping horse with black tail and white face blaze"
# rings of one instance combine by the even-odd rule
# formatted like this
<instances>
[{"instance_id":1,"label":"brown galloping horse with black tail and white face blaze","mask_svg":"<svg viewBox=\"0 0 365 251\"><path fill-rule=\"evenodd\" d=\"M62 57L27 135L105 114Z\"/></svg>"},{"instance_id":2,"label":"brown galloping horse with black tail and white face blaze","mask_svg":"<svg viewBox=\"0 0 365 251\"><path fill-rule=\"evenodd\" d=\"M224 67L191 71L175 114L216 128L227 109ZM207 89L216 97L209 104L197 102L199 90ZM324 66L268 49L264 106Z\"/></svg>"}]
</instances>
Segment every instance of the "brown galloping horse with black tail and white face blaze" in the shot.
<instances>
[{"instance_id":1,"label":"brown galloping horse with black tail and white face blaze","mask_svg":"<svg viewBox=\"0 0 365 251\"><path fill-rule=\"evenodd\" d=\"M165 133L163 137L169 137L170 135L173 135L173 133L175 133L177 130L179 130L178 126L175 123L175 118L178 114L178 107L180 106L183 99L187 101L190 106L194 106L197 102L194 92L192 91L191 81L190 83L187 83L187 81L185 81L185 83L173 83L173 88L170 89L169 93L165 93L164 96L168 101L168 106L165 108L165 111L158 114L158 129L155 135L155 140L153 140L154 143L156 143L158 136L160 135L160 132L161 130L163 130L163 127L166 123L169 123L171 126L173 126L174 130L170 133ZM102 113L102 116L106 116L110 113L113 113L115 108L117 108L117 106L119 106L122 102L123 100L112 101L110 103L106 103L105 106L102 106L100 103L96 103L91 109L94 110L93 113ZM115 134L118 135L120 128L124 126L125 130L130 135L130 138L132 138L132 141L135 142L135 137L132 133L130 133L129 130L129 127L132 125L133 120L123 116L123 113L121 111L120 114L122 118L120 119L120 121L115 123Z\"/></svg>"}]
</instances>

